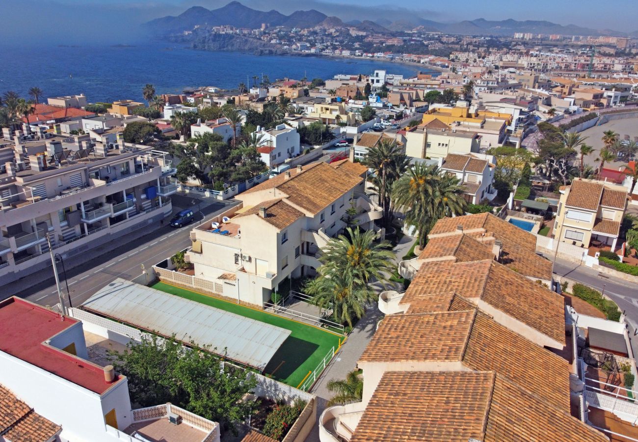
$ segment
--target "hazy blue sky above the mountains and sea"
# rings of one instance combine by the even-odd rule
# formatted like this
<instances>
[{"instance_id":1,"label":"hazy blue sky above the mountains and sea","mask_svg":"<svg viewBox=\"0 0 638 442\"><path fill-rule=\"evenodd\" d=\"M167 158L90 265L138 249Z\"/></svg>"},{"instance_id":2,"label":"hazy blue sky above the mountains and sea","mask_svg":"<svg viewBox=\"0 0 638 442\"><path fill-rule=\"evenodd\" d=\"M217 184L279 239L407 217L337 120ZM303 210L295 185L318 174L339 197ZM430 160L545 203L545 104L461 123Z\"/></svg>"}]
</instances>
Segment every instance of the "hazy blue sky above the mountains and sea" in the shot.
<instances>
[{"instance_id":1,"label":"hazy blue sky above the mountains and sea","mask_svg":"<svg viewBox=\"0 0 638 442\"><path fill-rule=\"evenodd\" d=\"M3 26L0 46L24 42L73 43L142 40L138 25L164 15L179 15L190 6L214 9L230 0L0 0ZM316 9L348 21L380 17L401 20L419 15L424 19L460 20L548 20L593 29L638 31L636 0L241 0L258 10L276 9L289 14L298 9Z\"/></svg>"}]
</instances>

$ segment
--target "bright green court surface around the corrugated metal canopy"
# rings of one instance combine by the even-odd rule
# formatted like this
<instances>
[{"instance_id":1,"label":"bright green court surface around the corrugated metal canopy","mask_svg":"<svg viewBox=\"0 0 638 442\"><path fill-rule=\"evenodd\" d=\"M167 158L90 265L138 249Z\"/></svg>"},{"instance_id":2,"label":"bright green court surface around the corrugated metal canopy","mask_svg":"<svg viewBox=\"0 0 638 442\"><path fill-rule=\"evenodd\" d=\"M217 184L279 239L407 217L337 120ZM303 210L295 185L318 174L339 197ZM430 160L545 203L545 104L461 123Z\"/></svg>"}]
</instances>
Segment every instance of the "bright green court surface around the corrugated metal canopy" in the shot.
<instances>
[{"instance_id":1,"label":"bright green court surface around the corrugated metal canopy","mask_svg":"<svg viewBox=\"0 0 638 442\"><path fill-rule=\"evenodd\" d=\"M195 293L163 282L156 282L156 284L153 284L151 287L166 293L181 296L182 298L210 305L216 309L225 310L226 312L249 317L257 321L262 321L263 323L290 330L290 336L274 354L271 362L269 362L263 371L263 374L295 388L304 380L308 372L315 370L330 349L334 347L336 351L339 346L339 340L344 339L336 333L321 330L308 324L299 323L275 314L213 298L205 294Z\"/></svg>"}]
</instances>

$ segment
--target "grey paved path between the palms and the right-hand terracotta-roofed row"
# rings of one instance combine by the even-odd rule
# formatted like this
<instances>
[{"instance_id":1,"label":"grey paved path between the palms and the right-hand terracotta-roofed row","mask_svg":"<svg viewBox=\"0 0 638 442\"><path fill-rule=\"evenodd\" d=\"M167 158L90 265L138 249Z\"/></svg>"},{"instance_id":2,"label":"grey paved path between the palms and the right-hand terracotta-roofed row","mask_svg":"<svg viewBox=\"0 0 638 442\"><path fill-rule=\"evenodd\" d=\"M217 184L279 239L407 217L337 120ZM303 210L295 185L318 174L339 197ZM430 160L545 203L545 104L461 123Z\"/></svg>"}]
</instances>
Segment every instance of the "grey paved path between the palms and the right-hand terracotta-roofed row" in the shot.
<instances>
[{"instance_id":1,"label":"grey paved path between the palms and the right-hand terracotta-roofed row","mask_svg":"<svg viewBox=\"0 0 638 442\"><path fill-rule=\"evenodd\" d=\"M396 263L401 261L403 255L410 250L414 241L414 238L407 235L401 239L393 250L396 256ZM376 282L372 285L375 287L376 293L392 288L402 289L399 284L392 282L386 284L387 287L383 287L382 284ZM359 361L359 357L375 334L376 324L381 319L383 319L383 313L379 311L376 303L367 306L366 313L352 330L346 343L341 346L330 365L323 370L322 376L313 386L312 393L317 396L317 424L308 435L308 438L306 438L306 442L319 442L319 417L325 409L325 404L332 397L332 393L327 388L327 383L332 379L345 379L346 375L357 367L357 361Z\"/></svg>"}]
</instances>

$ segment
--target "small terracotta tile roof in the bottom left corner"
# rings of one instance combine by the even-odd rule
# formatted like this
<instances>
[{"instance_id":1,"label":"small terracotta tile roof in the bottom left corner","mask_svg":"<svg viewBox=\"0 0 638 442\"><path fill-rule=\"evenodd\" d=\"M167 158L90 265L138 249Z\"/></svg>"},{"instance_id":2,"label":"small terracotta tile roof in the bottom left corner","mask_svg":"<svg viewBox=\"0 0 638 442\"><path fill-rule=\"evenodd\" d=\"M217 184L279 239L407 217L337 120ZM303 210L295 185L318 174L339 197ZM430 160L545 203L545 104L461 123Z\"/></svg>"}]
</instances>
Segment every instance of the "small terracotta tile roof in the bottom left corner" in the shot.
<instances>
[{"instance_id":1,"label":"small terracotta tile roof in the bottom left corner","mask_svg":"<svg viewBox=\"0 0 638 442\"><path fill-rule=\"evenodd\" d=\"M3 440L47 441L60 430L59 425L35 413L8 388L0 385L0 434Z\"/></svg>"}]
</instances>

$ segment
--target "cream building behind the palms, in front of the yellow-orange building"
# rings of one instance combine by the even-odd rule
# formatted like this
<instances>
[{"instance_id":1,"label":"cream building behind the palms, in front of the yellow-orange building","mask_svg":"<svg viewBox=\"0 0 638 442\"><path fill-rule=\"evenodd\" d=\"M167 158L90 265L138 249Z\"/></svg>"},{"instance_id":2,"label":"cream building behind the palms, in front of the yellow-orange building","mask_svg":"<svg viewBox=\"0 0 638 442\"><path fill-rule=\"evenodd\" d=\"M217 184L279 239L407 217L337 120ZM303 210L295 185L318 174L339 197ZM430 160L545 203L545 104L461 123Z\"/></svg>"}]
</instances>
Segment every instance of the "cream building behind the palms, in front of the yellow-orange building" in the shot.
<instances>
[{"instance_id":1,"label":"cream building behind the palms, in front of the yellow-orange building","mask_svg":"<svg viewBox=\"0 0 638 442\"><path fill-rule=\"evenodd\" d=\"M479 153L480 135L451 128L440 119L415 126L405 133L405 153L413 158L445 158L450 153Z\"/></svg>"}]
</instances>

